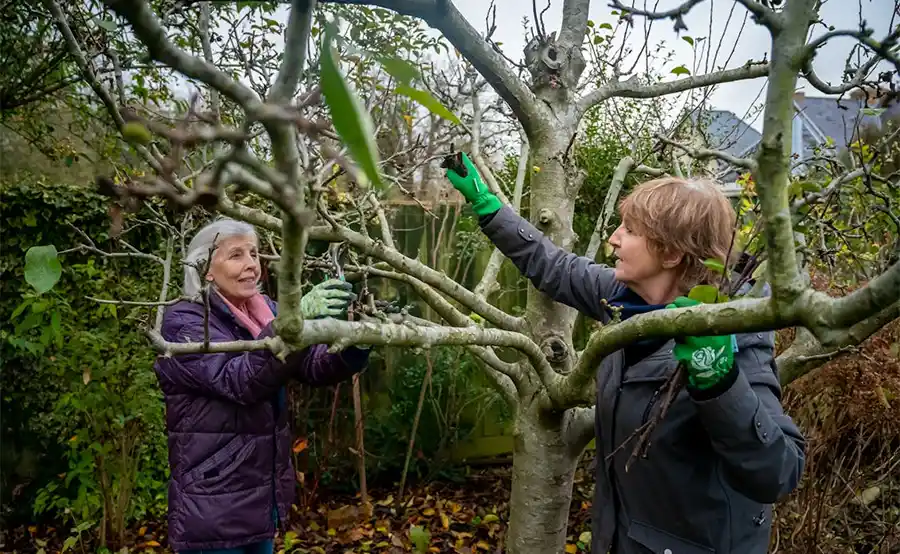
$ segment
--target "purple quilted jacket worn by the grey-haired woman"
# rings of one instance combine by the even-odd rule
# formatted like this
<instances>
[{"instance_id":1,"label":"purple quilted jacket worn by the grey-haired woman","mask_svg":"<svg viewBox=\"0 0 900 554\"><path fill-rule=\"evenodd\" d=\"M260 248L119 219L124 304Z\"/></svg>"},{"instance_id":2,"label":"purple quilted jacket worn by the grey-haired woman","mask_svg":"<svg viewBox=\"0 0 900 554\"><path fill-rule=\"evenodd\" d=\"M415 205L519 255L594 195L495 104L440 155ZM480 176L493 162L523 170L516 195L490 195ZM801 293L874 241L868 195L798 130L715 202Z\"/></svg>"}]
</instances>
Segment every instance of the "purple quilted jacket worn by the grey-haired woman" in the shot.
<instances>
[{"instance_id":1,"label":"purple quilted jacket worn by the grey-haired woman","mask_svg":"<svg viewBox=\"0 0 900 554\"><path fill-rule=\"evenodd\" d=\"M275 303L269 299L273 312ZM162 335L202 341L203 305L182 301L166 310ZM271 325L261 336L272 334ZM217 295L210 295L212 342L255 337ZM159 357L169 440L169 542L172 549L235 548L272 538L276 516L294 498L291 432L284 385L291 378L322 386L351 377L368 350L329 354L314 345L280 362L269 351Z\"/></svg>"}]
</instances>

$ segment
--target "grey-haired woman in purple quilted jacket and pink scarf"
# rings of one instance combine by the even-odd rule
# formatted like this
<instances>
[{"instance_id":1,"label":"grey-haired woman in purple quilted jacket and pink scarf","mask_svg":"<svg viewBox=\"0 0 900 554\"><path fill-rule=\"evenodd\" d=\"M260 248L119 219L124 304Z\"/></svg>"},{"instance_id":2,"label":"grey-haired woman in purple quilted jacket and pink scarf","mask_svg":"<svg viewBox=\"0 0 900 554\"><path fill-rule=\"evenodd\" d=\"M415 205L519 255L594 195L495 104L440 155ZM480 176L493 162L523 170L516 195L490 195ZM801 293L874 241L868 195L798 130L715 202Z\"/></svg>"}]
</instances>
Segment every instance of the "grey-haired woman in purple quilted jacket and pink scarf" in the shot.
<instances>
[{"instance_id":1,"label":"grey-haired woman in purple quilted jacket and pink scarf","mask_svg":"<svg viewBox=\"0 0 900 554\"><path fill-rule=\"evenodd\" d=\"M209 317L199 301L166 310L171 342L272 336L277 304L259 291L259 241L253 227L231 219L201 229L188 247L184 293L211 285ZM201 275L197 268L208 268ZM331 279L301 300L303 317L341 317L355 298ZM156 375L166 401L169 441L169 542L177 552L270 554L275 529L294 496L285 385L335 384L363 370L368 349L330 354L310 346L282 362L272 352L159 357Z\"/></svg>"}]
</instances>

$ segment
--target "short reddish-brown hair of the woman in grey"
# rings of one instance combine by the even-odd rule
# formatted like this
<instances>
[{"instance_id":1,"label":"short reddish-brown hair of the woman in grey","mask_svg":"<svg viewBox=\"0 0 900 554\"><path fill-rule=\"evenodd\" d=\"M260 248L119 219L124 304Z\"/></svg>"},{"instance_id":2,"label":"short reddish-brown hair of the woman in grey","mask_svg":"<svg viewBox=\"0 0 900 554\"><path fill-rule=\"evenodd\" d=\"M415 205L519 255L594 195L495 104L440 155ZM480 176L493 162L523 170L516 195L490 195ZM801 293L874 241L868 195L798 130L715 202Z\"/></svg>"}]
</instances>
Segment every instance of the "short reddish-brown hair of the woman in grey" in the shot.
<instances>
[{"instance_id":1,"label":"short reddish-brown hair of the woman in grey","mask_svg":"<svg viewBox=\"0 0 900 554\"><path fill-rule=\"evenodd\" d=\"M634 188L619 204L622 222L647 239L658 255L678 252L679 286L714 284L718 273L703 261L725 262L737 215L719 185L704 179L661 177ZM735 253L732 253L735 254Z\"/></svg>"}]
</instances>

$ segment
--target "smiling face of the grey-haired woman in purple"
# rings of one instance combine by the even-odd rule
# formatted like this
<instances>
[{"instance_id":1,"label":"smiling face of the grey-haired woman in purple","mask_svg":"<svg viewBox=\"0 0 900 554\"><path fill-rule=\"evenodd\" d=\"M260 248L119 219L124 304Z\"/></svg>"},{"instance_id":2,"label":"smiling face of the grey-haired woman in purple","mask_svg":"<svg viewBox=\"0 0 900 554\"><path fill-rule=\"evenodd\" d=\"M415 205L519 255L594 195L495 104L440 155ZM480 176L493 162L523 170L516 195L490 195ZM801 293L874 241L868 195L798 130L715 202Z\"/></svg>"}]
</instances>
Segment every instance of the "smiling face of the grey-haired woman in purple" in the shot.
<instances>
[{"instance_id":1,"label":"smiling face of the grey-haired woman in purple","mask_svg":"<svg viewBox=\"0 0 900 554\"><path fill-rule=\"evenodd\" d=\"M231 302L257 294L260 267L254 236L226 237L218 242L206 278Z\"/></svg>"}]
</instances>

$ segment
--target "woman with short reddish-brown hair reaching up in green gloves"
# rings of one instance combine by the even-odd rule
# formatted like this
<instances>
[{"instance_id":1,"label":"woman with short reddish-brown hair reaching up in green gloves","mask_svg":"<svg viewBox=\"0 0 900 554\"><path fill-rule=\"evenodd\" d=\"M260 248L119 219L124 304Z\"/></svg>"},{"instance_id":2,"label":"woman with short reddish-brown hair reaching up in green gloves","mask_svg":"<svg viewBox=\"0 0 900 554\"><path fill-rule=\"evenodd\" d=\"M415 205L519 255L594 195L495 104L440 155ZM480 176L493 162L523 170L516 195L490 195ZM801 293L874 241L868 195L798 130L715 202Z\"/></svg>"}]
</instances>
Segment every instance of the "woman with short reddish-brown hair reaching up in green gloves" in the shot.
<instances>
[{"instance_id":1,"label":"woman with short reddish-brown hair reaching up in green gloves","mask_svg":"<svg viewBox=\"0 0 900 554\"><path fill-rule=\"evenodd\" d=\"M725 261L735 213L715 183L666 177L637 186L609 238L614 268L554 245L494 196L463 155L447 170L484 233L541 292L603 323L696 304ZM804 440L784 414L774 333L645 340L597 371L591 551L599 554L766 552L771 505L800 481ZM687 386L631 465L618 448L644 425L679 363Z\"/></svg>"}]
</instances>

